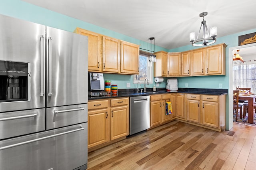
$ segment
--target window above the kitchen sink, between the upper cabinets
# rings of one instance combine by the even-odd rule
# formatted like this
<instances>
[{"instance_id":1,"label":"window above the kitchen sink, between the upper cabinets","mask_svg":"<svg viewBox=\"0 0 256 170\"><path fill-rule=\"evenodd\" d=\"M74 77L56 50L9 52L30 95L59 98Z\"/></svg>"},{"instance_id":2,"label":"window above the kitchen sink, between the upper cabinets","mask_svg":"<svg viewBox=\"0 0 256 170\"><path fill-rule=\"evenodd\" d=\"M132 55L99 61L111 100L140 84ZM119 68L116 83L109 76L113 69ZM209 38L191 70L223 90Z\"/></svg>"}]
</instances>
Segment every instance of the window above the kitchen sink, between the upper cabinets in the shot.
<instances>
[{"instance_id":1,"label":"window above the kitchen sink, between the upper cabinets","mask_svg":"<svg viewBox=\"0 0 256 170\"><path fill-rule=\"evenodd\" d=\"M140 51L139 74L133 75L134 84L137 84L138 82L144 84L146 78L148 79L148 83L153 83L153 64L149 62L149 56L150 53Z\"/></svg>"}]
</instances>

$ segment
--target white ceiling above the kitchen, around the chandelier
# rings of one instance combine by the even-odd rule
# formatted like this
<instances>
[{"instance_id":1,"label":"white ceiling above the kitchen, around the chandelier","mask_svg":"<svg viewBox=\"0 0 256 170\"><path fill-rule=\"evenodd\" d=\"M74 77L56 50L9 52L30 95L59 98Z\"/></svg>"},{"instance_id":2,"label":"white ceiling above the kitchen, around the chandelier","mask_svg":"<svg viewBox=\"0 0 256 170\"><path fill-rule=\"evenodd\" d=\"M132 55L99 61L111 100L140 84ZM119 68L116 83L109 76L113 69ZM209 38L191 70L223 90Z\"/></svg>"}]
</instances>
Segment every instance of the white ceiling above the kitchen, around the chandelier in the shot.
<instances>
[{"instance_id":1,"label":"white ceiling above the kitchen, around the chandelier","mask_svg":"<svg viewBox=\"0 0 256 170\"><path fill-rule=\"evenodd\" d=\"M189 45L201 12L218 37L256 28L256 0L23 0L167 49Z\"/></svg>"}]
</instances>

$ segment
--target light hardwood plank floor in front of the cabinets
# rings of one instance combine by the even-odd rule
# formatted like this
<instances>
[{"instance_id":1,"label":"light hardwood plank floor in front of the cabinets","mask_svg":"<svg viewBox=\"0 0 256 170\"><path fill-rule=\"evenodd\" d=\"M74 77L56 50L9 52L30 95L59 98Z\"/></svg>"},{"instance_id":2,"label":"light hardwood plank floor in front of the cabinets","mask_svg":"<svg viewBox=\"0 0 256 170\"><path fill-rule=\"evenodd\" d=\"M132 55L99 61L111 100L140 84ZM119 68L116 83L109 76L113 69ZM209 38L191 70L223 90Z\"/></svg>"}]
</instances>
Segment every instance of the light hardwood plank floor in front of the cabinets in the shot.
<instances>
[{"instance_id":1,"label":"light hardwood plank floor in front of the cabinets","mask_svg":"<svg viewBox=\"0 0 256 170\"><path fill-rule=\"evenodd\" d=\"M255 170L256 127L215 132L179 121L88 153L88 170Z\"/></svg>"}]
</instances>

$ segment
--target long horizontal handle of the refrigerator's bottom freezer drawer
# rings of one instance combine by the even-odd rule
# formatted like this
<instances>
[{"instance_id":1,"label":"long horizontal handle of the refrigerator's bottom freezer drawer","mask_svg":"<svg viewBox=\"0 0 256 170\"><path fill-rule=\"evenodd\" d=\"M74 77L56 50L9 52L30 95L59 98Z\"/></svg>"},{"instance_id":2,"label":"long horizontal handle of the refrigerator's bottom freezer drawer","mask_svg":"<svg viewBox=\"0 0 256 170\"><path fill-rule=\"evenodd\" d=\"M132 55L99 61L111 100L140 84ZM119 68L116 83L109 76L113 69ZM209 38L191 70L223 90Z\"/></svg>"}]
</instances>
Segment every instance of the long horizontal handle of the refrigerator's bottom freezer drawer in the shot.
<instances>
[{"instance_id":1,"label":"long horizontal handle of the refrigerator's bottom freezer drawer","mask_svg":"<svg viewBox=\"0 0 256 170\"><path fill-rule=\"evenodd\" d=\"M54 137L57 137L57 136L60 136L60 135L63 135L63 134L68 134L68 133L76 132L76 131L79 131L79 130L84 130L84 127L82 127L82 125L80 125L80 128L75 129L75 130L70 130L70 131L67 131L67 132L53 134L53 135L45 136L45 137L42 137L42 138L37 138L37 139L33 139L33 140L27 140L25 142L20 142L20 143L11 144L11 145L8 145L8 146L3 146L3 147L0 148L0 150L4 150L4 149L8 149L8 148L13 148L15 146L20 146L20 145L28 144L28 143L32 143L32 142L37 142L37 141L45 140L45 139L48 139L48 138L54 138Z\"/></svg>"}]
</instances>

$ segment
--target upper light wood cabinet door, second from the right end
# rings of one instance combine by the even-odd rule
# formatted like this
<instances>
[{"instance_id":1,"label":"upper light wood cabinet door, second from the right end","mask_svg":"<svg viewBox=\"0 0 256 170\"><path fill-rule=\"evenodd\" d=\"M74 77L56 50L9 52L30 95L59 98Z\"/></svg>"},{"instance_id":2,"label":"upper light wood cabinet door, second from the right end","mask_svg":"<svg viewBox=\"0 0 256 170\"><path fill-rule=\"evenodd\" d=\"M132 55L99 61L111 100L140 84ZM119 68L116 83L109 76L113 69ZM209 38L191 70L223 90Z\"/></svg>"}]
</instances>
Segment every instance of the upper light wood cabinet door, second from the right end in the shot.
<instances>
[{"instance_id":1,"label":"upper light wood cabinet door, second from the right end","mask_svg":"<svg viewBox=\"0 0 256 170\"><path fill-rule=\"evenodd\" d=\"M204 51L198 49L190 52L191 75L204 75Z\"/></svg>"}]
</instances>

